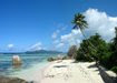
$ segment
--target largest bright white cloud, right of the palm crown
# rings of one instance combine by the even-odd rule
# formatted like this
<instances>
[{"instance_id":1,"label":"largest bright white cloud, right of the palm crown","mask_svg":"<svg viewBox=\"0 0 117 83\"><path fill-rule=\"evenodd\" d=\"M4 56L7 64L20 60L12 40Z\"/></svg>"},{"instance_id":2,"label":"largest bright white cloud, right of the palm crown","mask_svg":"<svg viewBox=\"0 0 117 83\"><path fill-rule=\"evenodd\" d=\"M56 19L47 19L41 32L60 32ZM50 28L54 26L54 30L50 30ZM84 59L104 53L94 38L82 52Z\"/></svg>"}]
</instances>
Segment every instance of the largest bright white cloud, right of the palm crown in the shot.
<instances>
[{"instance_id":1,"label":"largest bright white cloud, right of the palm crown","mask_svg":"<svg viewBox=\"0 0 117 83\"><path fill-rule=\"evenodd\" d=\"M88 37L94 33L99 33L107 41L114 38L117 17L110 17L106 12L100 12L97 9L88 9L84 14L89 24L89 29L85 31Z\"/></svg>"}]
</instances>

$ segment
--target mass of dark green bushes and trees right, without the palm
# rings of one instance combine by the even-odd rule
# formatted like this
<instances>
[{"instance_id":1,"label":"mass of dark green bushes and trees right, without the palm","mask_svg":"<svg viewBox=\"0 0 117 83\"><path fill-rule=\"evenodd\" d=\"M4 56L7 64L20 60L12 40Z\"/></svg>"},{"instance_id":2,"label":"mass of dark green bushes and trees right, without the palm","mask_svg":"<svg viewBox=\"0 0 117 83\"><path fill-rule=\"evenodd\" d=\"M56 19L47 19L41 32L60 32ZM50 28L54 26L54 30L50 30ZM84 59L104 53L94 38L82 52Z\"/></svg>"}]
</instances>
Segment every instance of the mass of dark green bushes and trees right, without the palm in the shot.
<instances>
[{"instance_id":1,"label":"mass of dark green bushes and trees right, without the palm","mask_svg":"<svg viewBox=\"0 0 117 83\"><path fill-rule=\"evenodd\" d=\"M82 40L77 50L76 61L98 61L105 68L117 73L117 28L115 30L116 37L110 43L103 40L98 33ZM89 44L89 41L96 50Z\"/></svg>"}]
</instances>

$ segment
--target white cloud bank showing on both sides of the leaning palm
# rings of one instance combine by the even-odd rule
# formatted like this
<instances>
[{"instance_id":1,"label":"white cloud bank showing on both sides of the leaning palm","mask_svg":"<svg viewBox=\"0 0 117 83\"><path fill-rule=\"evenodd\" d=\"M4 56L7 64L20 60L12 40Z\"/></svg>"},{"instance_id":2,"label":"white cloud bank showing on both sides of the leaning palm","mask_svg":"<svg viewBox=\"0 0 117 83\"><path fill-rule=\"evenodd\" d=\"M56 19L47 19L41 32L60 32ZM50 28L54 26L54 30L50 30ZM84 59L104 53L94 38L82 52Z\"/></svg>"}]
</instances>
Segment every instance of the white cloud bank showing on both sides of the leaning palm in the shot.
<instances>
[{"instance_id":1,"label":"white cloud bank showing on both sides of the leaning palm","mask_svg":"<svg viewBox=\"0 0 117 83\"><path fill-rule=\"evenodd\" d=\"M95 33L99 33L106 41L111 40L115 37L115 27L117 27L117 17L110 17L106 12L98 11L97 9L88 9L84 12L86 21L88 22L88 29L84 32L86 37L90 37ZM59 38L56 48L68 49L72 44L79 45L84 39L79 30L72 30L68 34L64 34Z\"/></svg>"}]
</instances>

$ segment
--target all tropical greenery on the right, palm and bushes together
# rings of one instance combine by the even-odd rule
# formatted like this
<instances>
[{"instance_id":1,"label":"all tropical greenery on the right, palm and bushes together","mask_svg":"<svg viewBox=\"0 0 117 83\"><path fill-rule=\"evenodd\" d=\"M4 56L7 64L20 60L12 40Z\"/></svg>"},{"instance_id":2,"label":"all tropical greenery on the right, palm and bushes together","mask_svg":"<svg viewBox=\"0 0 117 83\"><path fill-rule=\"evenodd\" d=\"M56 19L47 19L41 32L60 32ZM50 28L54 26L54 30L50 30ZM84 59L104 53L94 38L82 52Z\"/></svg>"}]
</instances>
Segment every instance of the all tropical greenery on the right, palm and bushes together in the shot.
<instances>
[{"instance_id":1,"label":"all tropical greenery on the right, palm and bushes together","mask_svg":"<svg viewBox=\"0 0 117 83\"><path fill-rule=\"evenodd\" d=\"M84 14L75 14L72 23L75 24L74 29L80 29L85 39L78 49L75 45L69 49L68 56L75 58L76 61L96 61L117 73L117 27L115 28L115 38L110 42L106 42L98 33L86 38L84 30L88 28L88 23Z\"/></svg>"}]
</instances>

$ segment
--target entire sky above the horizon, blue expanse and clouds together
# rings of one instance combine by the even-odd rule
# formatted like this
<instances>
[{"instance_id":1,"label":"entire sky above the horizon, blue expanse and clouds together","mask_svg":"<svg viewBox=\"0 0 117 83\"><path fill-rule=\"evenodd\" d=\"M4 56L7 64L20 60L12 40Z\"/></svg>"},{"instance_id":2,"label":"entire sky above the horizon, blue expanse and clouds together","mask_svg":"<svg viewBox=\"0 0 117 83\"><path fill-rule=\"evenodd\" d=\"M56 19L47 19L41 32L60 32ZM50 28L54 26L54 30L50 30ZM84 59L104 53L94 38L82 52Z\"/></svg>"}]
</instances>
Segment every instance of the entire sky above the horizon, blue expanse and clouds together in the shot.
<instances>
[{"instance_id":1,"label":"entire sky above the horizon, blue expanse and clouds together","mask_svg":"<svg viewBox=\"0 0 117 83\"><path fill-rule=\"evenodd\" d=\"M117 0L0 0L0 52L67 51L84 37L72 30L75 13L85 14L87 37L106 41L117 25Z\"/></svg>"}]
</instances>

